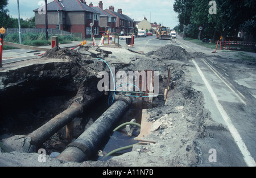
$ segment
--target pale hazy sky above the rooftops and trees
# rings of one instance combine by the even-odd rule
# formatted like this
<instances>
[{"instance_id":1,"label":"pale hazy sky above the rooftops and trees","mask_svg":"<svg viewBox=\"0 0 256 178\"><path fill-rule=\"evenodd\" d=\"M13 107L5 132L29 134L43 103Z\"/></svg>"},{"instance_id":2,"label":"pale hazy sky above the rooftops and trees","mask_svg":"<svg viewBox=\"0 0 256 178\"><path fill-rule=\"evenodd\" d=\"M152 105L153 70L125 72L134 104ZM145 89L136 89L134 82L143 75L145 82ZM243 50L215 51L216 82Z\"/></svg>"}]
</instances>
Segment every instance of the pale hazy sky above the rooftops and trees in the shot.
<instances>
[{"instance_id":1,"label":"pale hazy sky above the rooftops and trees","mask_svg":"<svg viewBox=\"0 0 256 178\"><path fill-rule=\"evenodd\" d=\"M47 2L52 2L48 0ZM43 1L44 2L44 1ZM98 6L97 0L86 0L87 5L92 2L93 6ZM174 12L174 0L102 0L103 9L114 6L115 11L122 9L123 14L130 18L141 21L146 16L150 22L162 23L164 26L174 28L179 22L177 13ZM20 17L23 19L34 16L33 10L40 7L42 0L19 0ZM18 18L17 0L9 0L7 5L9 14L13 18Z\"/></svg>"}]
</instances>

